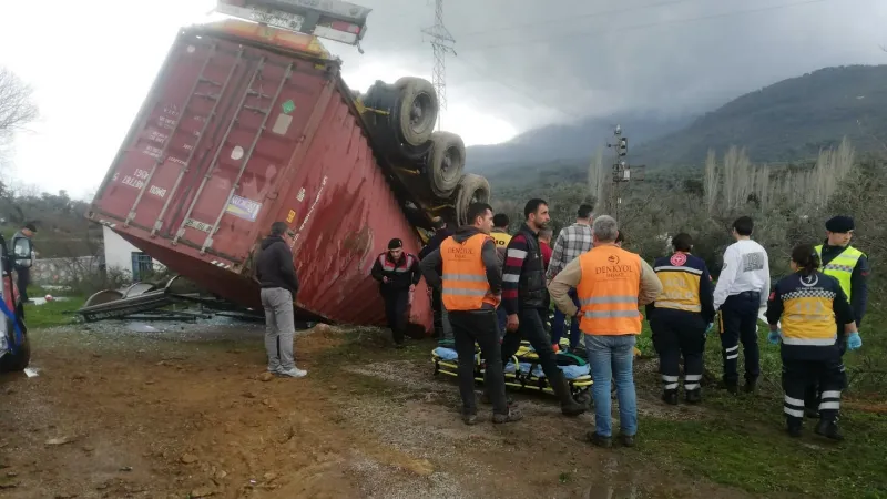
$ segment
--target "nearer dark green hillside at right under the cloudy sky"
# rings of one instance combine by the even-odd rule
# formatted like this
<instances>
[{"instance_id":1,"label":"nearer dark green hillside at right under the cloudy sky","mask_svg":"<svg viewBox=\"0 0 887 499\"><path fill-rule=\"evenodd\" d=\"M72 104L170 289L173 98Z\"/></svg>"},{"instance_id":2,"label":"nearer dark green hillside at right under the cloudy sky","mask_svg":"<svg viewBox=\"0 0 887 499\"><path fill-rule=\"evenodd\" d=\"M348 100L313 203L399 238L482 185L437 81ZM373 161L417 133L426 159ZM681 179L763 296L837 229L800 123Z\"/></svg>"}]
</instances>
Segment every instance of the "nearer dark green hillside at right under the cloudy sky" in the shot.
<instances>
[{"instance_id":1,"label":"nearer dark green hillside at right under the cloudy sky","mask_svg":"<svg viewBox=\"0 0 887 499\"><path fill-rule=\"evenodd\" d=\"M863 130L857 124L863 123ZM847 135L858 151L887 139L887 65L826 68L747 93L634 151L651 166L701 164L710 147L745 146L755 162L814 157Z\"/></svg>"}]
</instances>

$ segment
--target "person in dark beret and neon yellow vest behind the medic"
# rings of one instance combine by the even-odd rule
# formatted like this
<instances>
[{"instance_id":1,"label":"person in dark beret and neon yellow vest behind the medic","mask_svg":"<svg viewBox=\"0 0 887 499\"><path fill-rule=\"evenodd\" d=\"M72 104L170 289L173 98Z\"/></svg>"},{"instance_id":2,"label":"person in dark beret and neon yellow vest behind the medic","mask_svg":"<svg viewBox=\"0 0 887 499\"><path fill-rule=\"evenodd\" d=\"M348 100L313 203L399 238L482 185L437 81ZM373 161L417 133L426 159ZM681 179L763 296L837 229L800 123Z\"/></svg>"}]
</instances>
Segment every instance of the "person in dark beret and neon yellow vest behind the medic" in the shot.
<instances>
[{"instance_id":1,"label":"person in dark beret and neon yellow vest behind the medic","mask_svg":"<svg viewBox=\"0 0 887 499\"><path fill-rule=\"evenodd\" d=\"M847 295L858 328L863 323L868 304L868 257L865 253L850 246L855 225L850 216L833 216L825 223L826 240L816 246L816 254L822 262L822 272L835 277L842 291ZM847 335L843 325L838 327L838 348L840 354L847 349ZM804 394L804 411L808 418L819 417L820 393L815 381L807 386Z\"/></svg>"}]
</instances>

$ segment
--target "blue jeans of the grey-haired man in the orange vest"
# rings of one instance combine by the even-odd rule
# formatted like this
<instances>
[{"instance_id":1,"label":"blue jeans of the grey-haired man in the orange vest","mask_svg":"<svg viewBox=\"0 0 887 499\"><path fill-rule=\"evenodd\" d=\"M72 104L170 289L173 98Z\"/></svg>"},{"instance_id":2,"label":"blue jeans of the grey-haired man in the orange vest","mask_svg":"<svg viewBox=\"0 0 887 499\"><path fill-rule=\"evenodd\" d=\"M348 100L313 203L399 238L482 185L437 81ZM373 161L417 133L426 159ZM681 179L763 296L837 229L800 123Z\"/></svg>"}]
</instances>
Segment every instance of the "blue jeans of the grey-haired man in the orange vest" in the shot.
<instances>
[{"instance_id":1,"label":"blue jeans of the grey-haired man in the orange vest","mask_svg":"<svg viewBox=\"0 0 887 499\"><path fill-rule=\"evenodd\" d=\"M591 396L594 398L594 430L601 437L612 437L610 383L616 384L619 399L619 426L622 435L633 437L638 432L638 397L634 393L635 335L606 336L585 335L589 353Z\"/></svg>"}]
</instances>

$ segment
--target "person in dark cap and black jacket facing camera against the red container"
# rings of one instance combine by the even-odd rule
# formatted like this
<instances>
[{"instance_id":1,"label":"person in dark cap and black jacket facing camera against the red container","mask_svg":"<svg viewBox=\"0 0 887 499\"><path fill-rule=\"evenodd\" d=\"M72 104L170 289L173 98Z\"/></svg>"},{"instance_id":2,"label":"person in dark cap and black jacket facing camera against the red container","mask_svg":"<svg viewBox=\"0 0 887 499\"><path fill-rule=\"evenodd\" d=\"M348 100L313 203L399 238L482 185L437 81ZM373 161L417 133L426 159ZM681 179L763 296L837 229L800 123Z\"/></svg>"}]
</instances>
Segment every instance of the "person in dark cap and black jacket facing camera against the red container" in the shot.
<instances>
[{"instance_id":1,"label":"person in dark cap and black jacket facing camera against the red container","mask_svg":"<svg viewBox=\"0 0 887 499\"><path fill-rule=\"evenodd\" d=\"M409 297L421 278L419 258L404 253L404 242L395 237L388 242L388 251L376 257L370 275L379 282L379 292L385 301L385 318L391 328L395 347L401 348L407 330Z\"/></svg>"}]
</instances>

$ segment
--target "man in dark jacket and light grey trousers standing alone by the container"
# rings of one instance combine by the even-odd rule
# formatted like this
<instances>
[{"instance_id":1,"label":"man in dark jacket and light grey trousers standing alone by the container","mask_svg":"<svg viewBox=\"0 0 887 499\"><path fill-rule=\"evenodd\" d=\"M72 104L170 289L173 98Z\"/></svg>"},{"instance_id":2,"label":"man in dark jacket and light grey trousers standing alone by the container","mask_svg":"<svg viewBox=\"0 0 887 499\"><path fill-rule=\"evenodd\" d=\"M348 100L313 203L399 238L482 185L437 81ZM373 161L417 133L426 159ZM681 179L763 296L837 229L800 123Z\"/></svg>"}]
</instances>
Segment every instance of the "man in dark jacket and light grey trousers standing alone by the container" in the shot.
<instances>
[{"instance_id":1,"label":"man in dark jacket and light grey trousers standing alone by the container","mask_svg":"<svg viewBox=\"0 0 887 499\"><path fill-rule=\"evenodd\" d=\"M302 378L308 371L296 367L293 339L296 335L293 304L298 293L298 278L293 266L295 233L285 222L271 225L271 235L262 242L256 259L256 278L262 285L265 308L265 352L268 373Z\"/></svg>"}]
</instances>

